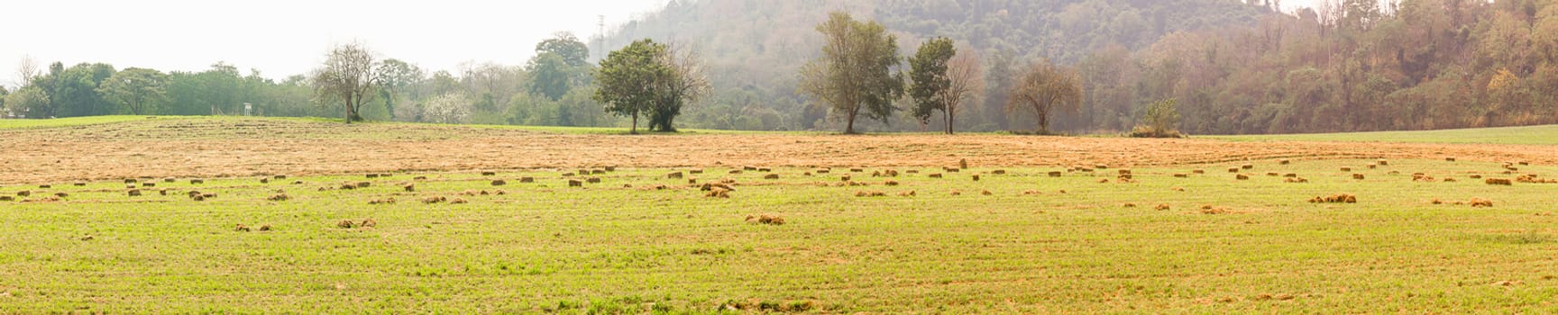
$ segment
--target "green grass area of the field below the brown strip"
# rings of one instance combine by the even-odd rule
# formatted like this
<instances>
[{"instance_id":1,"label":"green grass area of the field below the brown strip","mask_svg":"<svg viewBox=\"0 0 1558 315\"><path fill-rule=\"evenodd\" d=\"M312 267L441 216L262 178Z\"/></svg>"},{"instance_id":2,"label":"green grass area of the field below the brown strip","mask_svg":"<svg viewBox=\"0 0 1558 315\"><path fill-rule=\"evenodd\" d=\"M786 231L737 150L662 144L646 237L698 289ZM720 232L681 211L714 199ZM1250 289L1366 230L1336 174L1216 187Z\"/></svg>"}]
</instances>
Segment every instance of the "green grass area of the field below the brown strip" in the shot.
<instances>
[{"instance_id":1,"label":"green grass area of the field below the brown strip","mask_svg":"<svg viewBox=\"0 0 1558 315\"><path fill-rule=\"evenodd\" d=\"M0 313L1558 312L1558 183L1472 178L1558 168L1371 163L1148 166L1123 183L1119 166L978 163L153 177L139 197L123 180L16 183L0 186L14 199L0 202ZM1248 180L1229 172L1243 164ZM735 191L706 197L670 172ZM600 183L567 185L587 177ZM1357 203L1309 202L1332 194Z\"/></svg>"}]
</instances>

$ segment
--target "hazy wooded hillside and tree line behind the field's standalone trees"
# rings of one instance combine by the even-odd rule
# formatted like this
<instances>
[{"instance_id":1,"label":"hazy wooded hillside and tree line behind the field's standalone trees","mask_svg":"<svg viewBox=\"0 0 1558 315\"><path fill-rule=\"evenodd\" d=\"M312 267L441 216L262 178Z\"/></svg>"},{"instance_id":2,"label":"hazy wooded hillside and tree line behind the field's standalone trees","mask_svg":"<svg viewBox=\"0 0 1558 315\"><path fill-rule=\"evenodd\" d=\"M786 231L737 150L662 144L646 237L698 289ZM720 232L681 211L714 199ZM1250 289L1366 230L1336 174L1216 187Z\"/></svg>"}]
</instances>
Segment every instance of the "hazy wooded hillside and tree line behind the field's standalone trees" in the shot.
<instances>
[{"instance_id":1,"label":"hazy wooded hillside and tree line behind the field's standalone trees","mask_svg":"<svg viewBox=\"0 0 1558 315\"><path fill-rule=\"evenodd\" d=\"M696 51L706 65L710 93L681 110L681 127L840 130L838 115L801 92L799 68L823 53L818 23L846 11L880 22L905 59L935 37L978 56L983 90L958 115L960 132L1038 129L1033 115L1005 104L1019 70L1044 61L1080 76L1081 104L1049 123L1066 133L1131 130L1165 99L1192 135L1553 124L1555 3L1327 0L1284 12L1271 0L678 0L600 37L558 34L519 65L427 71L385 56L361 116L626 127L590 98L594 64L653 39ZM23 61L20 76L25 85L0 88L3 116L241 115L245 104L251 115L340 116L310 74L273 81L229 64L162 73ZM943 124L902 110L854 127Z\"/></svg>"}]
</instances>

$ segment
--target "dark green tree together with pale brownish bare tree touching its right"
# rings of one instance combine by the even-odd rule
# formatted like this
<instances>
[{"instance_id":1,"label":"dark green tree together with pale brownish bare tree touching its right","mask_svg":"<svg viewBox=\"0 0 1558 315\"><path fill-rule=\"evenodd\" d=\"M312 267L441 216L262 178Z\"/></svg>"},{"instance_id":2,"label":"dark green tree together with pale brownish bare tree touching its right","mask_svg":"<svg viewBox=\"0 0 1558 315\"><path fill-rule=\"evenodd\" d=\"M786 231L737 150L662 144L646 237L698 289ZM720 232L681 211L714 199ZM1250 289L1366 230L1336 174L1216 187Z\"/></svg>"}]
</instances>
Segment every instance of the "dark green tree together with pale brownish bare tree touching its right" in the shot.
<instances>
[{"instance_id":1,"label":"dark green tree together with pale brownish bare tree touching its right","mask_svg":"<svg viewBox=\"0 0 1558 315\"><path fill-rule=\"evenodd\" d=\"M921 45L908 59L908 65L911 79L908 95L915 98L915 118L927 124L930 115L941 110L947 135L952 135L958 104L974 96L975 90L985 88L978 56L974 50L958 53L950 39L938 37Z\"/></svg>"}]
</instances>

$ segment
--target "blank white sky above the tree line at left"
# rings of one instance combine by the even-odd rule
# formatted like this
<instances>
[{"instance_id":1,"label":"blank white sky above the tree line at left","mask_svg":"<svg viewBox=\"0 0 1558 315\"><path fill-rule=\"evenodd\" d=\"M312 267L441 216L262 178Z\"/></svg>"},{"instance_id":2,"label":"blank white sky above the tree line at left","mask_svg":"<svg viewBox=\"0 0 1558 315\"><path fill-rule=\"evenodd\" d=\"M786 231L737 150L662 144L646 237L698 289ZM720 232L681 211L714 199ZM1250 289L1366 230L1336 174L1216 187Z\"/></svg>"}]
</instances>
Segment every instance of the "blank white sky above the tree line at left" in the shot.
<instances>
[{"instance_id":1,"label":"blank white sky above the tree line at left","mask_svg":"<svg viewBox=\"0 0 1558 315\"><path fill-rule=\"evenodd\" d=\"M458 74L461 62L520 65L536 43L572 31L589 43L665 0L14 0L0 5L0 85L22 56L39 67L201 71L227 62L280 79L307 73L333 43ZM594 47L590 47L594 50ZM594 53L594 51L592 51Z\"/></svg>"}]
</instances>

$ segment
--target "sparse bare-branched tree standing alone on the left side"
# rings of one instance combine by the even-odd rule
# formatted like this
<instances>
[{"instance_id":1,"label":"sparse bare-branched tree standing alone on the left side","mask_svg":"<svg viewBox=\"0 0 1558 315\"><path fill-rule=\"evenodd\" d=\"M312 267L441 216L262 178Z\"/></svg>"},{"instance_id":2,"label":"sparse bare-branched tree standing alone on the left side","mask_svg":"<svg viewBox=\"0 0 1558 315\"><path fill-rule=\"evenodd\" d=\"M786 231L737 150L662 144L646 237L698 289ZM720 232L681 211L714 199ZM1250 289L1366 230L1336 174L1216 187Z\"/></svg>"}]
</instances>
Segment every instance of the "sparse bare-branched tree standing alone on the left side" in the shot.
<instances>
[{"instance_id":1,"label":"sparse bare-branched tree standing alone on the left side","mask_svg":"<svg viewBox=\"0 0 1558 315\"><path fill-rule=\"evenodd\" d=\"M363 104L379 88L374 76L374 53L360 43L338 45L327 54L324 67L313 71L313 88L321 104L338 102L346 109L346 123L363 121Z\"/></svg>"}]
</instances>

